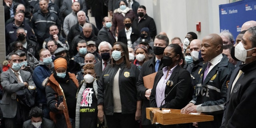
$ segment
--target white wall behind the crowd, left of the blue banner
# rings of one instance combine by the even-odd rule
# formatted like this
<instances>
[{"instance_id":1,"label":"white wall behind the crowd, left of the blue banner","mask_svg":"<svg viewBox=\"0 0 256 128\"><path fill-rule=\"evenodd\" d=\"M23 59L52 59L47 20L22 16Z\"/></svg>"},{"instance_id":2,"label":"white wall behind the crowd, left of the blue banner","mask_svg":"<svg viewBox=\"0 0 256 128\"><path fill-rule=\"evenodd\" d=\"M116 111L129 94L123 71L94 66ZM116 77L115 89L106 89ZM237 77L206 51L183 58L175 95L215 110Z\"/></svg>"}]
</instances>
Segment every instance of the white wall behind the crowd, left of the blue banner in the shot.
<instances>
[{"instance_id":1,"label":"white wall behind the crowd, left of the blue banner","mask_svg":"<svg viewBox=\"0 0 256 128\"><path fill-rule=\"evenodd\" d=\"M195 32L198 39L210 33L220 32L219 4L229 0L137 0L146 6L148 16L154 18L157 33L166 32L171 39L182 40L187 32ZM201 22L201 32L196 31Z\"/></svg>"}]
</instances>

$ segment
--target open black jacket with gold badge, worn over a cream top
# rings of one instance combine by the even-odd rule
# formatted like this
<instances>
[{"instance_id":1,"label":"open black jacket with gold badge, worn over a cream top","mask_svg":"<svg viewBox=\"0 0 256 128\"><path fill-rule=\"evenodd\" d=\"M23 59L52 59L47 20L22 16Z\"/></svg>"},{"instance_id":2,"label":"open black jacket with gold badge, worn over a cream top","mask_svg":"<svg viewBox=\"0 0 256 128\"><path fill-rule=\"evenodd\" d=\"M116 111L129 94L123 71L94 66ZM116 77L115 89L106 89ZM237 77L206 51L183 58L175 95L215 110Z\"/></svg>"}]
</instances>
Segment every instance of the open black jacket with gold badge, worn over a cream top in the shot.
<instances>
[{"instance_id":1,"label":"open black jacket with gold badge, worn over a cream top","mask_svg":"<svg viewBox=\"0 0 256 128\"><path fill-rule=\"evenodd\" d=\"M127 68L123 62L122 64L108 65L104 69L98 84L98 104L104 106L104 113L106 115L114 114L113 82L119 68L121 70L119 72L118 84L122 114L134 114L136 112L136 82L140 72L134 64L131 64L131 68Z\"/></svg>"}]
</instances>

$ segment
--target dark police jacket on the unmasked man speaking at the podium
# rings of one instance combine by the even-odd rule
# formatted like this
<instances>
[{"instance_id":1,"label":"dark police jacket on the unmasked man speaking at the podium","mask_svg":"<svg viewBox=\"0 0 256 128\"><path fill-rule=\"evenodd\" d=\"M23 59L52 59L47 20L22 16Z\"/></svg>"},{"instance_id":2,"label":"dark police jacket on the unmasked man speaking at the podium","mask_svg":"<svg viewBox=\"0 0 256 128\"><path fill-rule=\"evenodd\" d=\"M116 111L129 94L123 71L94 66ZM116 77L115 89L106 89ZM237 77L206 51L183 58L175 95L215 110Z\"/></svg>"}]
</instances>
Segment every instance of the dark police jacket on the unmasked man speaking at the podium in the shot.
<instances>
[{"instance_id":1,"label":"dark police jacket on the unmasked man speaking at the podium","mask_svg":"<svg viewBox=\"0 0 256 128\"><path fill-rule=\"evenodd\" d=\"M210 70L204 81L204 70L208 63L203 65L193 99L190 101L197 105L197 112L214 115L214 121L202 122L202 125L198 122L198 128L219 128L222 121L224 104L226 103L227 86L231 72L235 68L228 62L228 58L224 54L222 55L223 58L219 64Z\"/></svg>"}]
</instances>

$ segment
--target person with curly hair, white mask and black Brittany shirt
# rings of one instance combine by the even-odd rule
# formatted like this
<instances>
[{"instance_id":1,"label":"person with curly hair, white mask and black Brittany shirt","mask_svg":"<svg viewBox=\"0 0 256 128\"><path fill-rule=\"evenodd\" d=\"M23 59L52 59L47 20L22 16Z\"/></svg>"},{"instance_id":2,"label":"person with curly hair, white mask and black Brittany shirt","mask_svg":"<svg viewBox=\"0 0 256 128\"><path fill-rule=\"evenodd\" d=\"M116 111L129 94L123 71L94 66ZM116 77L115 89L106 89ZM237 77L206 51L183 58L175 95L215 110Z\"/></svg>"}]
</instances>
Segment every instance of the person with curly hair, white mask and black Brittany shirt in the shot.
<instances>
[{"instance_id":1,"label":"person with curly hair, white mask and black Brittany shirt","mask_svg":"<svg viewBox=\"0 0 256 128\"><path fill-rule=\"evenodd\" d=\"M94 64L86 64L83 83L78 87L76 99L76 128L97 128L98 84Z\"/></svg>"}]
</instances>

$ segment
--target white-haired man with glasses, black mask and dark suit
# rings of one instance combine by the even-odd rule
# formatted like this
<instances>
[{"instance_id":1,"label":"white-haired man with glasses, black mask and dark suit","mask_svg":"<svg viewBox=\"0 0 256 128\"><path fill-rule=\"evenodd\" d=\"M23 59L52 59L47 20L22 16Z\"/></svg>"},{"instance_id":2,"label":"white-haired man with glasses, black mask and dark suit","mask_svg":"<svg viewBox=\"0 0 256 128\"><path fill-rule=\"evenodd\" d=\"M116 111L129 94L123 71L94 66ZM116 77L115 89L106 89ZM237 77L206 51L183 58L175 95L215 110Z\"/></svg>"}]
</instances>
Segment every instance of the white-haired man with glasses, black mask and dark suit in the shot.
<instances>
[{"instance_id":1,"label":"white-haired man with glasses, black mask and dark suit","mask_svg":"<svg viewBox=\"0 0 256 128\"><path fill-rule=\"evenodd\" d=\"M104 41L99 44L98 49L99 49L98 52L102 60L100 60L100 62L95 64L94 69L95 69L96 75L101 77L104 68L108 66L108 64L110 64L111 55L112 55L112 46L110 43Z\"/></svg>"}]
</instances>

